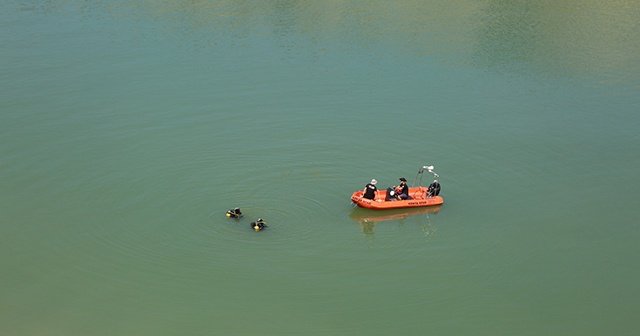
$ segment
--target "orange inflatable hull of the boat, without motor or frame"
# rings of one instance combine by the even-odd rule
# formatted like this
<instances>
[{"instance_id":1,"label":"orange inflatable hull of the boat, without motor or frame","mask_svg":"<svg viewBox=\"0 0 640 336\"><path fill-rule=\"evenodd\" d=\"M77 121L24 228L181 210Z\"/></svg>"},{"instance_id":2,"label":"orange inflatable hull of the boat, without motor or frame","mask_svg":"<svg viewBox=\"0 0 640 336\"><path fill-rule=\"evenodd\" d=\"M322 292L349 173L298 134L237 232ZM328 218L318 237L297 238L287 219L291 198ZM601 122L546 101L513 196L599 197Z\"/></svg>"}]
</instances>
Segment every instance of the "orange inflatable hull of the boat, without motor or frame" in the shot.
<instances>
[{"instance_id":1,"label":"orange inflatable hull of the boat, without motor or frame","mask_svg":"<svg viewBox=\"0 0 640 336\"><path fill-rule=\"evenodd\" d=\"M440 196L427 197L425 187L409 188L410 199L406 200L386 201L386 194L385 190L378 190L374 199L367 199L362 197L362 190L358 190L351 195L351 201L359 207L374 210L429 207L444 203Z\"/></svg>"}]
</instances>

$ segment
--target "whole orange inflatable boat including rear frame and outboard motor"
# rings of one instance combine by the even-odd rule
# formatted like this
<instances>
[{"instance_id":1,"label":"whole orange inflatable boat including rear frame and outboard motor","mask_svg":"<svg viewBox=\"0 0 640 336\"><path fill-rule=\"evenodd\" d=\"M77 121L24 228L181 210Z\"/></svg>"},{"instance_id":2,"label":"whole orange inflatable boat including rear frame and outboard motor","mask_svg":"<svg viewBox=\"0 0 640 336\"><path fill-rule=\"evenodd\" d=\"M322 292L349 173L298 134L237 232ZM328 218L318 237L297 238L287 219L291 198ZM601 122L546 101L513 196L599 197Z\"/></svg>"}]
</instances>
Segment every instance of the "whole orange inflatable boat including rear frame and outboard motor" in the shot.
<instances>
[{"instance_id":1,"label":"whole orange inflatable boat including rear frame and outboard motor","mask_svg":"<svg viewBox=\"0 0 640 336\"><path fill-rule=\"evenodd\" d=\"M420 177L420 182L422 182L422 175L425 169L429 173L433 174L435 178L434 183L437 183L438 174L433 171L433 166L422 166L420 170L418 170L416 181L418 180L418 177ZM373 199L368 199L362 197L364 194L362 190L358 190L351 195L351 201L359 207L374 210L418 208L436 206L444 203L444 199L439 196L439 184L437 187L437 191L435 193L432 191L430 194L429 188L423 187L420 185L420 183L418 183L417 187L409 188L409 198L405 200L396 200L393 197L390 198L387 193L388 190L378 190L375 192L375 197Z\"/></svg>"}]
</instances>

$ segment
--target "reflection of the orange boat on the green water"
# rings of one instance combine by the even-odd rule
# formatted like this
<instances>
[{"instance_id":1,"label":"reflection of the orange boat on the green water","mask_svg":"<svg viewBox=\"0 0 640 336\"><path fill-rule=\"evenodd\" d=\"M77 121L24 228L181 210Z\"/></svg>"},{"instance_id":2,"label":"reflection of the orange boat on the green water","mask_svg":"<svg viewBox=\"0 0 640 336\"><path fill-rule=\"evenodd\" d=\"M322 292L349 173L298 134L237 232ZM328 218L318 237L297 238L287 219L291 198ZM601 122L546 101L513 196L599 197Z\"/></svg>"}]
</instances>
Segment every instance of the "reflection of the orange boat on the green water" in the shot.
<instances>
[{"instance_id":1,"label":"reflection of the orange boat on the green water","mask_svg":"<svg viewBox=\"0 0 640 336\"><path fill-rule=\"evenodd\" d=\"M356 207L349 214L349 218L351 218L352 221L360 224L362 233L373 234L376 223L386 221L399 221L419 215L428 216L430 214L437 214L440 209L442 209L442 205L424 208L394 209L383 211ZM433 233L434 229L431 228L429 224L426 224L426 227L423 228L423 231L425 231L425 234L429 235Z\"/></svg>"}]
</instances>

